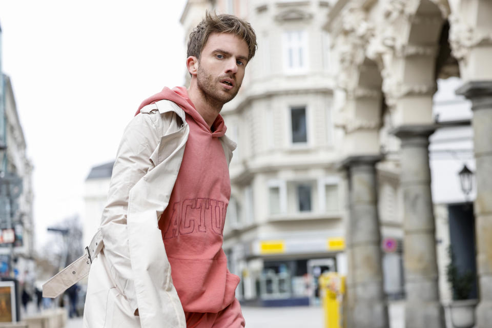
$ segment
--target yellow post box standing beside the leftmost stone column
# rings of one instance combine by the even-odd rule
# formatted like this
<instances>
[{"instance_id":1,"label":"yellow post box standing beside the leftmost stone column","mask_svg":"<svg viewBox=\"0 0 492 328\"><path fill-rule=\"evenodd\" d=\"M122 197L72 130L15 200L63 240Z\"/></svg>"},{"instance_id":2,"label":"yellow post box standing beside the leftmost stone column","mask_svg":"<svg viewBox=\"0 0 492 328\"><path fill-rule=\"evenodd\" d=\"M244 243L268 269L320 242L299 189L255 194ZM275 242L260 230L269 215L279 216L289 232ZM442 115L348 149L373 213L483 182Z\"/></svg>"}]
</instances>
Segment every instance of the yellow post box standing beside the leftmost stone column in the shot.
<instances>
[{"instance_id":1,"label":"yellow post box standing beside the leftmost stone column","mask_svg":"<svg viewBox=\"0 0 492 328\"><path fill-rule=\"evenodd\" d=\"M325 328L341 328L341 303L345 293L345 277L336 272L323 273L319 286L324 312Z\"/></svg>"}]
</instances>

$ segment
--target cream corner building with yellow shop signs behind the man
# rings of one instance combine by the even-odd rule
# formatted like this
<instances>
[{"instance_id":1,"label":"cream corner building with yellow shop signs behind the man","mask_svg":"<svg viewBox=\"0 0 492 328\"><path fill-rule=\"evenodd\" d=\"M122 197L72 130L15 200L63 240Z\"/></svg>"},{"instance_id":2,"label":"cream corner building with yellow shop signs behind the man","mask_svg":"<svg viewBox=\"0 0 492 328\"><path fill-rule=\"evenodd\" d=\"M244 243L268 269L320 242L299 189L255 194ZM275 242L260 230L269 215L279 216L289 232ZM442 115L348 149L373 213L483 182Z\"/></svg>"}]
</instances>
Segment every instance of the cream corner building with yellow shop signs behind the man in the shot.
<instances>
[{"instance_id":1,"label":"cream corner building with yellow shop signs behind the man","mask_svg":"<svg viewBox=\"0 0 492 328\"><path fill-rule=\"evenodd\" d=\"M317 302L317 277L346 271L344 185L337 170L328 2L189 1L186 35L204 11L246 18L258 51L224 105L238 142L224 228L237 297L261 305Z\"/></svg>"}]
</instances>

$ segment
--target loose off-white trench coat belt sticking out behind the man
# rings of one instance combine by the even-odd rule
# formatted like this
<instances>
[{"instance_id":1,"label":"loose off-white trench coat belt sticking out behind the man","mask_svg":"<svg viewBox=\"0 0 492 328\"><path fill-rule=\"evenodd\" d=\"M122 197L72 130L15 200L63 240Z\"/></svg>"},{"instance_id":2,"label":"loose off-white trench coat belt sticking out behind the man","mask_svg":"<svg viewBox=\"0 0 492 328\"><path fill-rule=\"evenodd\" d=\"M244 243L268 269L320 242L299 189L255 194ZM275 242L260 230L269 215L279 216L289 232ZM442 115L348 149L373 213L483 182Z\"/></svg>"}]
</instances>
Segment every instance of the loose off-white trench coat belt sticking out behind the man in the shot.
<instances>
[{"instance_id":1,"label":"loose off-white trench coat belt sticking out behind the man","mask_svg":"<svg viewBox=\"0 0 492 328\"><path fill-rule=\"evenodd\" d=\"M86 247L86 254L80 256L43 284L43 297L55 298L65 292L71 285L84 279L89 274L92 260L97 257L101 249L103 249L103 233L99 229L89 246Z\"/></svg>"}]
</instances>

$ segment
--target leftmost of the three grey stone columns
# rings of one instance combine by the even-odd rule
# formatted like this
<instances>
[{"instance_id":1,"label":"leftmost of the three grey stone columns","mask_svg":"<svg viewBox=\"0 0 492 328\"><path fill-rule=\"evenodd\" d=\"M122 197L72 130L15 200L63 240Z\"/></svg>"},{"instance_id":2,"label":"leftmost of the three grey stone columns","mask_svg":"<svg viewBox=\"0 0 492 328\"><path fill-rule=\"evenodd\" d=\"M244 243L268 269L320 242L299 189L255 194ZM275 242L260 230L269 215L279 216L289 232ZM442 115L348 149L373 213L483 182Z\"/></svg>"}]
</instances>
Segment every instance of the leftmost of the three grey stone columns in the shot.
<instances>
[{"instance_id":1,"label":"leftmost of the three grey stone columns","mask_svg":"<svg viewBox=\"0 0 492 328\"><path fill-rule=\"evenodd\" d=\"M351 156L344 162L350 193L347 256L351 272L347 297L353 328L388 328L383 292L381 237L375 163L380 156Z\"/></svg>"}]
</instances>

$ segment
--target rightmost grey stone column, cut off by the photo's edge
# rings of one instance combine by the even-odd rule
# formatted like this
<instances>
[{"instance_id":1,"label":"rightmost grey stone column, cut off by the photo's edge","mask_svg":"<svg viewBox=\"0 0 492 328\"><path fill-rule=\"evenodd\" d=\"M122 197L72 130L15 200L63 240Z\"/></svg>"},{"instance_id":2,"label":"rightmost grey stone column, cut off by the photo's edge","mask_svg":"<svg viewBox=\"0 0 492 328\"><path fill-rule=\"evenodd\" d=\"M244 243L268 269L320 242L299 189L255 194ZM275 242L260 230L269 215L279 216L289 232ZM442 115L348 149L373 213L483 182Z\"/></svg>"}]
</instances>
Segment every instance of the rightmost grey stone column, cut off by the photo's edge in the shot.
<instances>
[{"instance_id":1,"label":"rightmost grey stone column, cut off by the photo's edge","mask_svg":"<svg viewBox=\"0 0 492 328\"><path fill-rule=\"evenodd\" d=\"M470 81L456 93L470 99L473 110L477 181L474 211L480 295L476 319L477 328L486 328L492 325L492 80Z\"/></svg>"}]
</instances>

